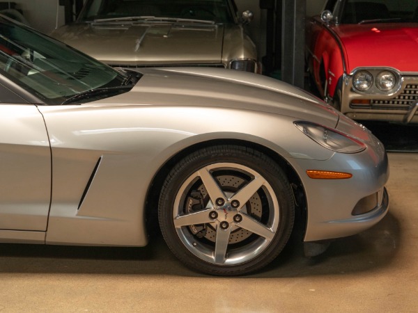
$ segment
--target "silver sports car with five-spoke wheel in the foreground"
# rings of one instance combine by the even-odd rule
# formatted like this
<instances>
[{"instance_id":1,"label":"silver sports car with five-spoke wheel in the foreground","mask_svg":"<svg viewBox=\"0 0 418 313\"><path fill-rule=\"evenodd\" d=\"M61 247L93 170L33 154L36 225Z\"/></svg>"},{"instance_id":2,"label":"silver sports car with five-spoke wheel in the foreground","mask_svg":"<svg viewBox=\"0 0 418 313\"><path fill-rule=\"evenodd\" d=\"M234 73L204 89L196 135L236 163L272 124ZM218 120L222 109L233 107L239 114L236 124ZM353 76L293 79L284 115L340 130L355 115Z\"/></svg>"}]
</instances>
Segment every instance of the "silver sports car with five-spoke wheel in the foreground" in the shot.
<instances>
[{"instance_id":1,"label":"silver sports car with five-spoke wheel in the foreground","mask_svg":"<svg viewBox=\"0 0 418 313\"><path fill-rule=\"evenodd\" d=\"M308 255L388 209L382 144L319 99L213 68L118 72L0 17L0 241L145 246L190 268ZM319 247L319 248L318 248Z\"/></svg>"}]
</instances>

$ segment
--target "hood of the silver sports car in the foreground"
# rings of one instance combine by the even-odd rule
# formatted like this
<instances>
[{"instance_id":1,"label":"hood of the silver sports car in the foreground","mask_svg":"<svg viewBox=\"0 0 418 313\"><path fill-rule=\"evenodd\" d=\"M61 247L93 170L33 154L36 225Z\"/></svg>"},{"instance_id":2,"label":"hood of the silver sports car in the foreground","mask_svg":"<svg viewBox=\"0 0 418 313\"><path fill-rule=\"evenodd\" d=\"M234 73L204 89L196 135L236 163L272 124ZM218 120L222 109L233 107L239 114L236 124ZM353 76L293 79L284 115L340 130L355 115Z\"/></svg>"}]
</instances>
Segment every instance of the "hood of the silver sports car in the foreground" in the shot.
<instances>
[{"instance_id":1,"label":"hood of the silver sports car in the foreground","mask_svg":"<svg viewBox=\"0 0 418 313\"><path fill-rule=\"evenodd\" d=\"M216 68L143 68L129 93L98 101L112 105L216 106L247 109L336 127L337 113L322 100L287 83Z\"/></svg>"}]
</instances>

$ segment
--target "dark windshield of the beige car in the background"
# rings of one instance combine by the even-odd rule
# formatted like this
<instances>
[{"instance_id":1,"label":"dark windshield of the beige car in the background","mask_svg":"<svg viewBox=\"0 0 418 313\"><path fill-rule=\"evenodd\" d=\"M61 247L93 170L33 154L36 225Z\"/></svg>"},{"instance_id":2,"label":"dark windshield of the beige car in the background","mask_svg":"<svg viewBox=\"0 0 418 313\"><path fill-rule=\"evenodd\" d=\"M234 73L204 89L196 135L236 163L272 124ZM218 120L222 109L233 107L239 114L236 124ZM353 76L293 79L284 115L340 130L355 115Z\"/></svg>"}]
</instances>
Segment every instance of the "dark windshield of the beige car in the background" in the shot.
<instances>
[{"instance_id":1,"label":"dark windshield of the beige car in the background","mask_svg":"<svg viewBox=\"0 0 418 313\"><path fill-rule=\"evenodd\" d=\"M89 0L78 21L150 16L234 22L228 0Z\"/></svg>"}]
</instances>

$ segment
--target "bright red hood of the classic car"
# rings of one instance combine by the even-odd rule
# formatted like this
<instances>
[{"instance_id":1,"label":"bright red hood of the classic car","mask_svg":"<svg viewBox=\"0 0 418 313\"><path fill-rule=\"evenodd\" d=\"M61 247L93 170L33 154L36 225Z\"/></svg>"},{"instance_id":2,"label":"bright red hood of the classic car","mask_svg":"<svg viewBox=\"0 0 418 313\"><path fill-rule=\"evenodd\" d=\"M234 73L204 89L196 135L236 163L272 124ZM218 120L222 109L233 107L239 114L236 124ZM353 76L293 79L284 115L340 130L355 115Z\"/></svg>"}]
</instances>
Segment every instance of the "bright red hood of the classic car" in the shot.
<instances>
[{"instance_id":1,"label":"bright red hood of the classic car","mask_svg":"<svg viewBox=\"0 0 418 313\"><path fill-rule=\"evenodd\" d=\"M359 66L418 72L418 24L349 24L334 28L343 43L347 72Z\"/></svg>"}]
</instances>

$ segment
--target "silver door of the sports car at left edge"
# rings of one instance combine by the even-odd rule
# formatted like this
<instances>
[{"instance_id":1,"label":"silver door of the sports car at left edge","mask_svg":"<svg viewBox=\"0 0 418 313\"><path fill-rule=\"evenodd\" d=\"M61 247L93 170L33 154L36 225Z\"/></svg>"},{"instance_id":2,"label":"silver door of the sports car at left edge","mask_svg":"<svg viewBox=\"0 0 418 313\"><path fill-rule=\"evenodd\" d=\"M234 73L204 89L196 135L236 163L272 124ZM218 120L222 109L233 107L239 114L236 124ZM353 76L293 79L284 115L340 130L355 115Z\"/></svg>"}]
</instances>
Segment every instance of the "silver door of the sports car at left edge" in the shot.
<instances>
[{"instance_id":1,"label":"silver door of the sports car at left edge","mask_svg":"<svg viewBox=\"0 0 418 313\"><path fill-rule=\"evenodd\" d=\"M45 123L35 105L10 104L10 97L0 84L0 230L45 231L51 198Z\"/></svg>"}]
</instances>

